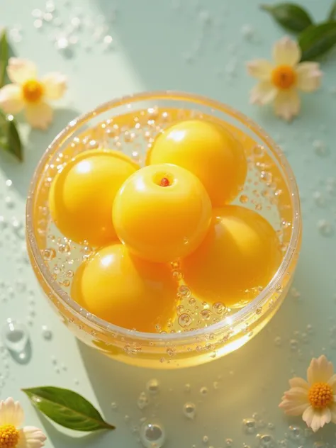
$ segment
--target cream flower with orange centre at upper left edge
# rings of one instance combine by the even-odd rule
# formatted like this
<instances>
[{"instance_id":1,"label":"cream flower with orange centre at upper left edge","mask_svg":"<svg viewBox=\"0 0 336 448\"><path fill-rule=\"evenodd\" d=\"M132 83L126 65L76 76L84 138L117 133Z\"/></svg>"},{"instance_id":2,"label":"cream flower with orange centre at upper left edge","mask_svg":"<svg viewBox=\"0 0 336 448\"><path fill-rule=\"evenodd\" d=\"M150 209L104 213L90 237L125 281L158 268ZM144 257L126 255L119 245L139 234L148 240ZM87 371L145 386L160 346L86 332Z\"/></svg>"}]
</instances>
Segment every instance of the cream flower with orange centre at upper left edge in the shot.
<instances>
[{"instance_id":1,"label":"cream flower with orange centre at upper left edge","mask_svg":"<svg viewBox=\"0 0 336 448\"><path fill-rule=\"evenodd\" d=\"M4 113L26 110L26 120L33 128L46 129L52 122L52 108L47 100L60 99L67 89L64 75L50 73L37 79L33 62L11 57L7 74L13 84L0 89L0 108Z\"/></svg>"}]
</instances>

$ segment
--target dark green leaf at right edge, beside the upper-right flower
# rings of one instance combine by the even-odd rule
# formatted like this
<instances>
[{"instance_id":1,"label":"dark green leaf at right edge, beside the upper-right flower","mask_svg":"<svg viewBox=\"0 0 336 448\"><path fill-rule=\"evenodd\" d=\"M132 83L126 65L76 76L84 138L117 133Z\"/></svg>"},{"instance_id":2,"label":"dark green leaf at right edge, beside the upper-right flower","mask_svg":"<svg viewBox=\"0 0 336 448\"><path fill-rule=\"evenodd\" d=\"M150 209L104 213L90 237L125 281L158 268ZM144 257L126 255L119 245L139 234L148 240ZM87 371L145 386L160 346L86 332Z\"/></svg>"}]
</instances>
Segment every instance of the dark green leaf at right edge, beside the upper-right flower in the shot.
<instances>
[{"instance_id":1,"label":"dark green leaf at right edge, beside the upper-right flower","mask_svg":"<svg viewBox=\"0 0 336 448\"><path fill-rule=\"evenodd\" d=\"M314 60L331 50L336 44L336 21L312 25L298 36L301 60Z\"/></svg>"}]
</instances>

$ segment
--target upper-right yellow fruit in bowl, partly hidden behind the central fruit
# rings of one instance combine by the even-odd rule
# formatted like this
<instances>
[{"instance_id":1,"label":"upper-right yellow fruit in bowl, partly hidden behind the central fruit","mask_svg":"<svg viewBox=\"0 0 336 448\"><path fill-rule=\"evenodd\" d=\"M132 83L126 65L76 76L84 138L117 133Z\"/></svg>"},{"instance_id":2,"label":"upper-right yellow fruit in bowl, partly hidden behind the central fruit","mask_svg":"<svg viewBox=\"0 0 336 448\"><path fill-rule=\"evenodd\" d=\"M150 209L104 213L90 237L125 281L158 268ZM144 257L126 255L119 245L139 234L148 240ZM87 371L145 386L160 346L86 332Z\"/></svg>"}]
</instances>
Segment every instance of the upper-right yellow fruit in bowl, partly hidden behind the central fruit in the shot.
<instances>
[{"instance_id":1,"label":"upper-right yellow fruit in bowl, partly hidden behind the central fruit","mask_svg":"<svg viewBox=\"0 0 336 448\"><path fill-rule=\"evenodd\" d=\"M181 121L159 134L147 155L147 164L158 163L177 164L194 173L213 207L233 201L247 174L240 142L210 121Z\"/></svg>"}]
</instances>

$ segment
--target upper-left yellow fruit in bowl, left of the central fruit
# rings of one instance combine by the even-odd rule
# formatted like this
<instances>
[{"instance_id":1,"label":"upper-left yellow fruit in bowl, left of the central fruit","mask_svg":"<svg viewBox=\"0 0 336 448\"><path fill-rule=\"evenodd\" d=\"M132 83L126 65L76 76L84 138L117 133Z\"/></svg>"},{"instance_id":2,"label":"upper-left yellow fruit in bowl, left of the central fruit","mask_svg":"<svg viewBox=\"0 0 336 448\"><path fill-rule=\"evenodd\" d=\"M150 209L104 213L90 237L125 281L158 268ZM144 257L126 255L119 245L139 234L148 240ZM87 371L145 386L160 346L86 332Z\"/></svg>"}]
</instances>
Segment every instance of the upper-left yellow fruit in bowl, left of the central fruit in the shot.
<instances>
[{"instance_id":1,"label":"upper-left yellow fruit in bowl, left of the central fruit","mask_svg":"<svg viewBox=\"0 0 336 448\"><path fill-rule=\"evenodd\" d=\"M57 173L49 192L52 220L65 237L94 247L116 240L111 213L123 182L138 169L113 150L80 153Z\"/></svg>"}]
</instances>

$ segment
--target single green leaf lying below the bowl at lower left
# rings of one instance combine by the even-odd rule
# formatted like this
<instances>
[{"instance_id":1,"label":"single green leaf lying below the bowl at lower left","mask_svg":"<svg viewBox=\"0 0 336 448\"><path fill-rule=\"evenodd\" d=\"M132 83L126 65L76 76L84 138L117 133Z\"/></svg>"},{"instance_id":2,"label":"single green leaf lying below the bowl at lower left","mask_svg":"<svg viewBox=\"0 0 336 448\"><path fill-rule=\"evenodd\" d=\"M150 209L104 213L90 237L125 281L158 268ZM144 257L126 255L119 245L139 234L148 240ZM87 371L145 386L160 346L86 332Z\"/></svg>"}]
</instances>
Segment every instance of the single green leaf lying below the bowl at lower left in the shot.
<instances>
[{"instance_id":1,"label":"single green leaf lying below the bowl at lower left","mask_svg":"<svg viewBox=\"0 0 336 448\"><path fill-rule=\"evenodd\" d=\"M45 386L22 389L31 403L51 420L70 430L114 430L98 410L78 393L58 387Z\"/></svg>"}]
</instances>

